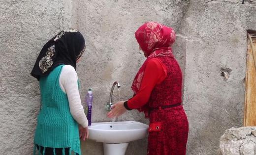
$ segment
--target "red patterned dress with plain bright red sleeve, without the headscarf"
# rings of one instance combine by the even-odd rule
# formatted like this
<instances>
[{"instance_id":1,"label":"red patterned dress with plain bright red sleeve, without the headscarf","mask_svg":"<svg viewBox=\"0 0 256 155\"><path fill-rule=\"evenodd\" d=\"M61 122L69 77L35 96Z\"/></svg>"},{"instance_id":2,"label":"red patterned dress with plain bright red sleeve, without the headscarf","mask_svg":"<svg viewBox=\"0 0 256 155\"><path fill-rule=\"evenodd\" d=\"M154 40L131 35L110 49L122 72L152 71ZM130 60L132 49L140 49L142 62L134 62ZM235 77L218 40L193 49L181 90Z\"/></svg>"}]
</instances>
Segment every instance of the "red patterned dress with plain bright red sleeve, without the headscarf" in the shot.
<instances>
[{"instance_id":1,"label":"red patterned dress with plain bright red sleeve, without the headscarf","mask_svg":"<svg viewBox=\"0 0 256 155\"><path fill-rule=\"evenodd\" d=\"M164 56L151 59L141 88L128 100L128 107L137 109L144 104L150 124L161 122L160 131L149 132L148 155L186 155L189 124L182 105L155 109L182 102L182 72L177 61Z\"/></svg>"}]
</instances>

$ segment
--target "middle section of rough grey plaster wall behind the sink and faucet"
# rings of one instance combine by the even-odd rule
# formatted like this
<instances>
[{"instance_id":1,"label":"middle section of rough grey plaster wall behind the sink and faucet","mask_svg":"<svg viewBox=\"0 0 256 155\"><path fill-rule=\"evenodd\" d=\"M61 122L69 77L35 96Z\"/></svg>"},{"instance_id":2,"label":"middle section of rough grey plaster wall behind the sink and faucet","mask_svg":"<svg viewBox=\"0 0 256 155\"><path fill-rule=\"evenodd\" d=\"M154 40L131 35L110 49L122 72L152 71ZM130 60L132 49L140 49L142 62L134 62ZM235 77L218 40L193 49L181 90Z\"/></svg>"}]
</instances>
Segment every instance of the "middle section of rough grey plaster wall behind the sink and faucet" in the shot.
<instances>
[{"instance_id":1,"label":"middle section of rough grey plaster wall behind the sink and faucet","mask_svg":"<svg viewBox=\"0 0 256 155\"><path fill-rule=\"evenodd\" d=\"M145 60L138 50L134 32L146 21L159 21L178 28L187 3L182 0L74 0L72 24L86 37L86 53L78 64L81 95L93 88L93 122L111 121L106 117L111 86L115 80L121 84L120 99L132 97L132 80ZM170 9L172 8L172 9ZM176 10L176 11L175 11ZM182 49L176 46L174 49ZM175 51L184 63L183 52ZM114 91L114 102L118 101ZM118 121L139 121L148 124L142 113L129 111ZM82 143L87 155L102 155L101 143ZM146 155L147 138L130 142L126 155Z\"/></svg>"}]
</instances>

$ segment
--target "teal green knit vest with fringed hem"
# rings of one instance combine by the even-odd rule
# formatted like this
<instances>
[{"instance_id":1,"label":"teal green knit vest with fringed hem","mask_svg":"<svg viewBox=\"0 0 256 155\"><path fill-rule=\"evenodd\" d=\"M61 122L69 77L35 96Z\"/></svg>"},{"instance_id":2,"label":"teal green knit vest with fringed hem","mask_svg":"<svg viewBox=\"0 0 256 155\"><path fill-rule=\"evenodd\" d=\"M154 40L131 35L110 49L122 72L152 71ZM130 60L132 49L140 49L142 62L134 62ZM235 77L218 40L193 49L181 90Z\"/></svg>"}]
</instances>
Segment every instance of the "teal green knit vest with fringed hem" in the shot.
<instances>
[{"instance_id":1,"label":"teal green knit vest with fringed hem","mask_svg":"<svg viewBox=\"0 0 256 155\"><path fill-rule=\"evenodd\" d=\"M48 76L40 78L41 109L37 117L34 144L54 148L54 151L55 148L63 148L64 152L64 148L70 148L69 155L71 151L81 155L78 124L70 113L67 95L59 84L63 66L56 67ZM34 154L35 150L34 147Z\"/></svg>"}]
</instances>

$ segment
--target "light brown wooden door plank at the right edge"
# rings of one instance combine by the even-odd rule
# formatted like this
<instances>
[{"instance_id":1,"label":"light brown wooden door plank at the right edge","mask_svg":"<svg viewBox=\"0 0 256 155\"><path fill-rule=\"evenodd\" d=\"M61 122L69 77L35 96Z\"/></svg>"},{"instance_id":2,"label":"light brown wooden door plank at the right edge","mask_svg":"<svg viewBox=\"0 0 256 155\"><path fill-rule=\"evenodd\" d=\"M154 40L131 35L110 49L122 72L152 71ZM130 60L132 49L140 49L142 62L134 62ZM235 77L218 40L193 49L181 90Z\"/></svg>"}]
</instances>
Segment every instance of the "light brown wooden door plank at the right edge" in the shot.
<instances>
[{"instance_id":1,"label":"light brown wooden door plank at the right edge","mask_svg":"<svg viewBox=\"0 0 256 155\"><path fill-rule=\"evenodd\" d=\"M256 49L255 38L253 38L253 42L254 49ZM256 68L249 39L248 45L245 78L244 126L256 126Z\"/></svg>"}]
</instances>

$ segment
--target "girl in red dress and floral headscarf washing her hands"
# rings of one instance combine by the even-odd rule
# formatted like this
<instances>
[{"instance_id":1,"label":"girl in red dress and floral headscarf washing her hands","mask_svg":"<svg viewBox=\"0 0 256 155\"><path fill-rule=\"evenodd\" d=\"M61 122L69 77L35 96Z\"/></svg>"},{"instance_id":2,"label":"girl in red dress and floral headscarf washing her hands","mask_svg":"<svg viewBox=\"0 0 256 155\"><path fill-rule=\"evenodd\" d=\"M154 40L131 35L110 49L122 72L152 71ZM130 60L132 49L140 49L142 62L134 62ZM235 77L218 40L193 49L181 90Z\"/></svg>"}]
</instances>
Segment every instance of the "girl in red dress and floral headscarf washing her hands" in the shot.
<instances>
[{"instance_id":1,"label":"girl in red dress and floral headscarf washing her hands","mask_svg":"<svg viewBox=\"0 0 256 155\"><path fill-rule=\"evenodd\" d=\"M134 96L114 104L107 115L113 118L131 109L144 112L150 119L148 155L186 155L189 123L182 106L182 72L171 49L175 32L148 22L135 38L147 59L133 80Z\"/></svg>"}]
</instances>

